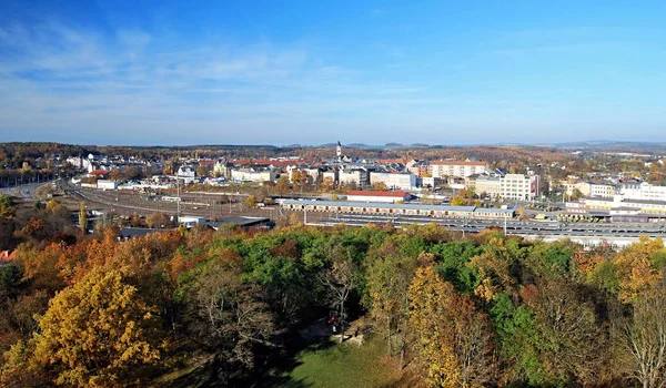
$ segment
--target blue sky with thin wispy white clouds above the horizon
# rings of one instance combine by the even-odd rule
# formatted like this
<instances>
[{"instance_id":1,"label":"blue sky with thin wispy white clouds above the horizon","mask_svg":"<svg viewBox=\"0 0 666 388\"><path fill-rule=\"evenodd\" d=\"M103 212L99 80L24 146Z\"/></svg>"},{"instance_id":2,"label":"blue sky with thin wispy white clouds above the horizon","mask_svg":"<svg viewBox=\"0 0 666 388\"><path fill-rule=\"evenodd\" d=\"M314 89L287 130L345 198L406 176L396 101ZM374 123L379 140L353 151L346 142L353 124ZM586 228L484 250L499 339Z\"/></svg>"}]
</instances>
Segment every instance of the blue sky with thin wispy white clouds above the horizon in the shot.
<instances>
[{"instance_id":1,"label":"blue sky with thin wispy white clouds above the horizon","mask_svg":"<svg viewBox=\"0 0 666 388\"><path fill-rule=\"evenodd\" d=\"M0 0L0 141L666 141L665 1Z\"/></svg>"}]
</instances>

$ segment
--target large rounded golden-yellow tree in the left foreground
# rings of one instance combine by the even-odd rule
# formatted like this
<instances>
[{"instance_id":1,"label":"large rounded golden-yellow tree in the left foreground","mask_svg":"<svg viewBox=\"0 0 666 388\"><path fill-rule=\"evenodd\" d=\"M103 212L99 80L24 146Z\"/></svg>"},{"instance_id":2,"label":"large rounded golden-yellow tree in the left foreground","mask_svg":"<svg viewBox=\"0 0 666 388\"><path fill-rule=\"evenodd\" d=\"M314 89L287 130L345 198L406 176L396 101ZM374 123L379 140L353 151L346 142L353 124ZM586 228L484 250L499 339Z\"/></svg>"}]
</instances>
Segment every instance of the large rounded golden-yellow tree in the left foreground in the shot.
<instances>
[{"instance_id":1,"label":"large rounded golden-yellow tree in the left foreground","mask_svg":"<svg viewBox=\"0 0 666 388\"><path fill-rule=\"evenodd\" d=\"M58 385L124 386L137 382L140 367L154 364L152 308L124 270L95 268L59 293L39 318L32 368L48 368Z\"/></svg>"}]
</instances>

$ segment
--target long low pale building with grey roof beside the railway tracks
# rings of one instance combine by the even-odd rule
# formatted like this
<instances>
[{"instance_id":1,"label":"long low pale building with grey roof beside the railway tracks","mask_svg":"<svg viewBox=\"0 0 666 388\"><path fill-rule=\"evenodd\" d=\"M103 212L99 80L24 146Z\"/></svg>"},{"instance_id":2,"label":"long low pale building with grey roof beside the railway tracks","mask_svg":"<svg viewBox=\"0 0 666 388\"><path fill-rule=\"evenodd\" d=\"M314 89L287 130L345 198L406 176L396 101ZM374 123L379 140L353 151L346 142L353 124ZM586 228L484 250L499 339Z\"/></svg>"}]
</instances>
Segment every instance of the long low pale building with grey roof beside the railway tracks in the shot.
<instances>
[{"instance_id":1,"label":"long low pale building with grey roof beside the railway tracks","mask_svg":"<svg viewBox=\"0 0 666 388\"><path fill-rule=\"evenodd\" d=\"M512 208L483 208L476 206L447 206L422 204L389 204L350 201L284 200L280 204L286 211L307 211L346 214L421 215L436 218L512 218Z\"/></svg>"}]
</instances>

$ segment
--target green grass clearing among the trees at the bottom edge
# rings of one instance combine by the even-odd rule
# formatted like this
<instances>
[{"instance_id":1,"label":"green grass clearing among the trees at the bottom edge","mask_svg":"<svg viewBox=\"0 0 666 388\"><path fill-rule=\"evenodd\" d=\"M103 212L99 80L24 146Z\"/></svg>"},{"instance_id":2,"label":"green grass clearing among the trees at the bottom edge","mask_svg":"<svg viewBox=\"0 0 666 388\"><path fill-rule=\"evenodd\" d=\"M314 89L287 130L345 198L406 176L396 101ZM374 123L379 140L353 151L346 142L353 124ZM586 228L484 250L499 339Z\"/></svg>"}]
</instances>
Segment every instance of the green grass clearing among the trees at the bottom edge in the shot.
<instances>
[{"instance_id":1,"label":"green grass clearing among the trees at the bottom edge","mask_svg":"<svg viewBox=\"0 0 666 388\"><path fill-rule=\"evenodd\" d=\"M362 346L326 344L309 347L296 356L284 387L387 387L398 379L397 364L385 357L381 338Z\"/></svg>"}]
</instances>

